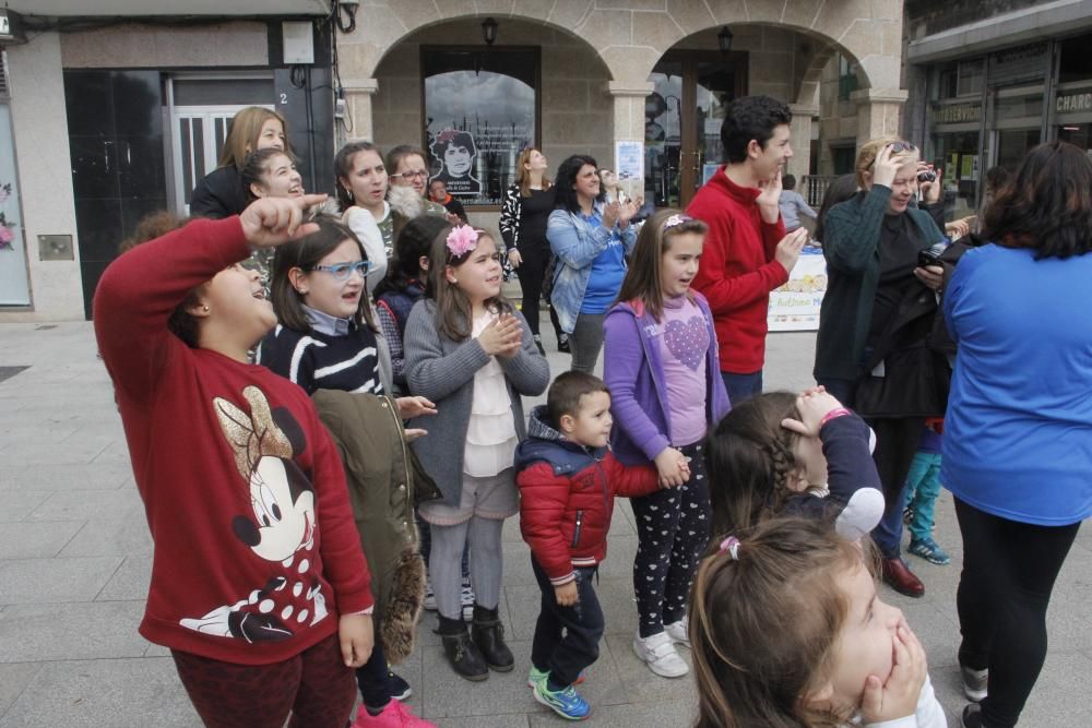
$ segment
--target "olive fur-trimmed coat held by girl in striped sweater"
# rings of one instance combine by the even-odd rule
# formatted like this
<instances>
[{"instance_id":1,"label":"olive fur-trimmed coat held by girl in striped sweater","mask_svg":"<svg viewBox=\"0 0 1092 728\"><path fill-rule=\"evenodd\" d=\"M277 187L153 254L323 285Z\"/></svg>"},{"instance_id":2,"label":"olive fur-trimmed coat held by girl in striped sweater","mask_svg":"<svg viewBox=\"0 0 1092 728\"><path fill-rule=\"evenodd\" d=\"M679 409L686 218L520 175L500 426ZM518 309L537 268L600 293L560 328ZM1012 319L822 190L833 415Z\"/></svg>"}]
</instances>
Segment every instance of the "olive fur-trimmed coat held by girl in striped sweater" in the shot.
<instances>
[{"instance_id":1,"label":"olive fur-trimmed coat held by girl in striped sweater","mask_svg":"<svg viewBox=\"0 0 1092 728\"><path fill-rule=\"evenodd\" d=\"M313 396L345 465L360 547L372 573L376 618L392 665L413 653L425 599L415 502L439 490L410 450L397 404L385 396L319 390Z\"/></svg>"}]
</instances>

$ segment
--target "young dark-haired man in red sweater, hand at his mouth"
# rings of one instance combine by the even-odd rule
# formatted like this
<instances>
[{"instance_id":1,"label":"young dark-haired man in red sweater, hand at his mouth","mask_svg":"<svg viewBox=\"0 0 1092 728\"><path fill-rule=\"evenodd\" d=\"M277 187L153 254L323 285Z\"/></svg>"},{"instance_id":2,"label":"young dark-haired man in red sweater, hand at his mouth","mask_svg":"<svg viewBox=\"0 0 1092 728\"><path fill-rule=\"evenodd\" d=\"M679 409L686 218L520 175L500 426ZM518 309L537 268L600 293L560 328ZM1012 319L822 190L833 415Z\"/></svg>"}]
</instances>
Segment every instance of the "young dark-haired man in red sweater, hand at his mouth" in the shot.
<instances>
[{"instance_id":1,"label":"young dark-haired man in red sweater, hand at his mouth","mask_svg":"<svg viewBox=\"0 0 1092 728\"><path fill-rule=\"evenodd\" d=\"M728 104L721 124L727 164L687 213L709 225L697 288L713 312L721 375L733 404L762 391L770 291L788 281L807 230L785 235L778 201L793 156L788 107L769 96Z\"/></svg>"}]
</instances>

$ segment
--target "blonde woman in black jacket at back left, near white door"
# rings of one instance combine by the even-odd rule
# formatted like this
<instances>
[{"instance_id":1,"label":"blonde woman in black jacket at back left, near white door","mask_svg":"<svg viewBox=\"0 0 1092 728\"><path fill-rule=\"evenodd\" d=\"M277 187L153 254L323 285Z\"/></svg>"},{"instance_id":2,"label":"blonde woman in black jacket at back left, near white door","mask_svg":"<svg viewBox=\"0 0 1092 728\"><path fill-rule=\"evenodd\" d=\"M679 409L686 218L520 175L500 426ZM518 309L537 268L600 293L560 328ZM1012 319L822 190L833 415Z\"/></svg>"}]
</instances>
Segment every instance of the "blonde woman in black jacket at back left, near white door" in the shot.
<instances>
[{"instance_id":1,"label":"blonde woman in black jacket at back left, near white door","mask_svg":"<svg viewBox=\"0 0 1092 728\"><path fill-rule=\"evenodd\" d=\"M190 214L221 219L241 213L248 203L242 184L247 155L276 148L292 157L284 117L261 106L248 106L232 119L219 153L219 166L205 175L190 194Z\"/></svg>"}]
</instances>

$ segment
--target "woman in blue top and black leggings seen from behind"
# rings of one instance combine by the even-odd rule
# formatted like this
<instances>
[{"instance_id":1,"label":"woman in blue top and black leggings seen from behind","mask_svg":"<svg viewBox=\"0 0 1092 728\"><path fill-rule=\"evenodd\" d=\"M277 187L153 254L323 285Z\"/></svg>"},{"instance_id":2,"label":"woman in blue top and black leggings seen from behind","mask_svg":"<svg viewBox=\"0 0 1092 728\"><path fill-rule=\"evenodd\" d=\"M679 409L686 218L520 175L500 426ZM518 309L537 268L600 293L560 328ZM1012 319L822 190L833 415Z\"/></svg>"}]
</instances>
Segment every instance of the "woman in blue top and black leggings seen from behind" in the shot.
<instances>
[{"instance_id":1,"label":"woman in blue top and black leggings seen from behind","mask_svg":"<svg viewBox=\"0 0 1092 728\"><path fill-rule=\"evenodd\" d=\"M963 535L964 726L1020 717L1046 657L1046 608L1092 513L1092 162L1032 150L945 293L959 344L940 479Z\"/></svg>"}]
</instances>

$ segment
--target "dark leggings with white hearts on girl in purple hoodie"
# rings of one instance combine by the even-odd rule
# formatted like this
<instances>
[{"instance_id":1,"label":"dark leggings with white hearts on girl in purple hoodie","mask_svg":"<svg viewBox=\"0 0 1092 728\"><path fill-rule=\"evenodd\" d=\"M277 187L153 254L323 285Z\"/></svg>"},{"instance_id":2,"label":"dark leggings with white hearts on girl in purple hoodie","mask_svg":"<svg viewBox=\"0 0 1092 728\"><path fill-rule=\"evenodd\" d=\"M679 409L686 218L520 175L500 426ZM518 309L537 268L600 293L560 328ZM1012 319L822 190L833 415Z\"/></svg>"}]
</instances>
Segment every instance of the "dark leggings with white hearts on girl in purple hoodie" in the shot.
<instances>
[{"instance_id":1,"label":"dark leggings with white hearts on girl in purple hoodie","mask_svg":"<svg viewBox=\"0 0 1092 728\"><path fill-rule=\"evenodd\" d=\"M686 616L695 570L709 545L712 512L705 454L700 443L679 447L690 458L690 479L678 488L630 499L637 520L633 592L642 637Z\"/></svg>"}]
</instances>

